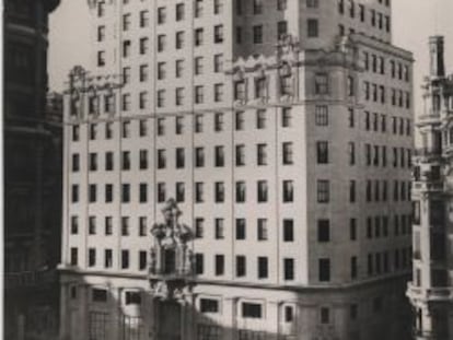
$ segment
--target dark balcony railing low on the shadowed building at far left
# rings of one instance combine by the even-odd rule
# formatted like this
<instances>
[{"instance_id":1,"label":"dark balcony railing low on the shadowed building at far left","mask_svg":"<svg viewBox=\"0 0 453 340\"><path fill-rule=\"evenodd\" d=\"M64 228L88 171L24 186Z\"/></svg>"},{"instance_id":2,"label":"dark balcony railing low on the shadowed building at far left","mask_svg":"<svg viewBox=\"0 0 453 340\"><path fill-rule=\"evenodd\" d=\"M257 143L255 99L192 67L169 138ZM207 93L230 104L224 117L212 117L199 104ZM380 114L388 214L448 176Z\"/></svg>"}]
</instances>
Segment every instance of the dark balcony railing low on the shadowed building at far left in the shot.
<instances>
[{"instance_id":1,"label":"dark balcony railing low on the shadowed building at far left","mask_svg":"<svg viewBox=\"0 0 453 340\"><path fill-rule=\"evenodd\" d=\"M57 282L57 272L55 270L37 270L7 272L4 274L5 289L35 288Z\"/></svg>"}]
</instances>

